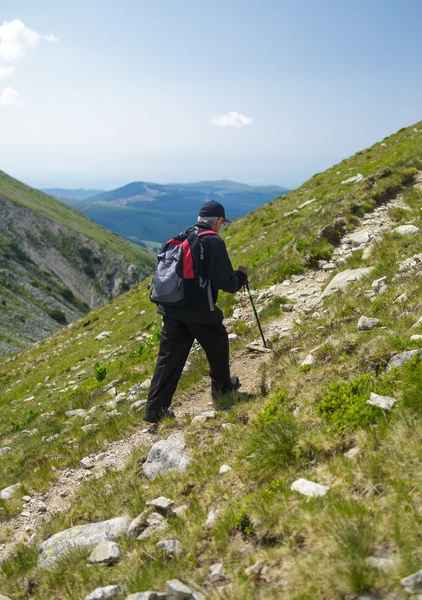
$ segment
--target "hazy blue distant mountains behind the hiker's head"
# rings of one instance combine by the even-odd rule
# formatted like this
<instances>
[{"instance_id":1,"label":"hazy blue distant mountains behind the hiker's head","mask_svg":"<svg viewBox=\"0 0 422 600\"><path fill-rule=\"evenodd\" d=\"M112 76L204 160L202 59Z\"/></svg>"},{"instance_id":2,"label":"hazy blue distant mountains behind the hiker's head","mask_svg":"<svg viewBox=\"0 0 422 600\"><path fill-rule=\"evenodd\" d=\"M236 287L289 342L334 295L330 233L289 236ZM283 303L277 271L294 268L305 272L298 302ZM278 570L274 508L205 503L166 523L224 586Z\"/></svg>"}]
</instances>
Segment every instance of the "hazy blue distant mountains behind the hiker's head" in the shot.
<instances>
[{"instance_id":1,"label":"hazy blue distant mountains behind the hiker's head","mask_svg":"<svg viewBox=\"0 0 422 600\"><path fill-rule=\"evenodd\" d=\"M249 186L234 181L202 181L160 185L129 183L81 202L60 198L93 221L142 245L142 241L165 242L195 222L199 208L218 200L234 220L288 190L279 186Z\"/></svg>"}]
</instances>

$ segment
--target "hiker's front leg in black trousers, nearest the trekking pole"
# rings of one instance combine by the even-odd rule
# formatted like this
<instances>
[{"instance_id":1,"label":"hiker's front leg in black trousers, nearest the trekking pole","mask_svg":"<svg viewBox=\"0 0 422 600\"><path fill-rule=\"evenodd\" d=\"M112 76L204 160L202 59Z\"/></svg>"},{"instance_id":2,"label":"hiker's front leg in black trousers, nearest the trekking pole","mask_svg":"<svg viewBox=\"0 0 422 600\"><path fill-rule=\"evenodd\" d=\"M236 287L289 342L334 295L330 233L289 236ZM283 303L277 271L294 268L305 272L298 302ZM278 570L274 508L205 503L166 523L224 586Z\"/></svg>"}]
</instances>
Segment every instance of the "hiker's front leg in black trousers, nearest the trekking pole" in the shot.
<instances>
[{"instance_id":1,"label":"hiker's front leg in black trousers, nearest the trekking pole","mask_svg":"<svg viewBox=\"0 0 422 600\"><path fill-rule=\"evenodd\" d=\"M198 340L210 363L212 389L224 393L233 388L230 380L229 339L223 323L200 325L186 323L186 327Z\"/></svg>"}]
</instances>

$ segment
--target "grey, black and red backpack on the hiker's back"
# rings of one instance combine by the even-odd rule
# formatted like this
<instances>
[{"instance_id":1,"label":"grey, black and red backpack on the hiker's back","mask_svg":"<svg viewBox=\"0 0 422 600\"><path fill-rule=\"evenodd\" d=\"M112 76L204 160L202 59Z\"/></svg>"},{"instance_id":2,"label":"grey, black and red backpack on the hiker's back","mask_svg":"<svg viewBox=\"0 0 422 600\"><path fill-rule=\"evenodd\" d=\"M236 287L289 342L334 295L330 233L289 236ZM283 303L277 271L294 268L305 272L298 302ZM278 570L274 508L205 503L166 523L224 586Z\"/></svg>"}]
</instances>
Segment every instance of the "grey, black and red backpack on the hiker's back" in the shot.
<instances>
[{"instance_id":1,"label":"grey, black and red backpack on the hiker's back","mask_svg":"<svg viewBox=\"0 0 422 600\"><path fill-rule=\"evenodd\" d=\"M201 289L208 287L210 310L214 310L211 282L204 273L204 249L200 238L218 235L215 231L198 233L190 227L163 246L151 282L150 299L164 306L190 306L198 302Z\"/></svg>"}]
</instances>

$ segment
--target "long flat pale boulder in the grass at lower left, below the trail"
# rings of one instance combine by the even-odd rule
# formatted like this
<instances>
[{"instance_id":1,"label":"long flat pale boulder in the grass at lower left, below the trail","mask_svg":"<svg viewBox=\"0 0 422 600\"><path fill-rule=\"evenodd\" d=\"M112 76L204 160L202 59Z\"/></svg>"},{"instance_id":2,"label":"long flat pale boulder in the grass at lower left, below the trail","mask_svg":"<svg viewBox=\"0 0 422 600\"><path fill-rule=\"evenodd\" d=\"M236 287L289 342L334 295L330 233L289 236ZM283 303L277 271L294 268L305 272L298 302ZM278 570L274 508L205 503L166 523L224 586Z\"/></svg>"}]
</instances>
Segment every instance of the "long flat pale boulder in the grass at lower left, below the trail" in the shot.
<instances>
[{"instance_id":1,"label":"long flat pale boulder in the grass at lower left, below the trail","mask_svg":"<svg viewBox=\"0 0 422 600\"><path fill-rule=\"evenodd\" d=\"M116 517L99 523L76 525L70 529L55 533L39 547L38 566L48 568L71 548L95 547L102 540L115 540L126 534L131 518Z\"/></svg>"}]
</instances>

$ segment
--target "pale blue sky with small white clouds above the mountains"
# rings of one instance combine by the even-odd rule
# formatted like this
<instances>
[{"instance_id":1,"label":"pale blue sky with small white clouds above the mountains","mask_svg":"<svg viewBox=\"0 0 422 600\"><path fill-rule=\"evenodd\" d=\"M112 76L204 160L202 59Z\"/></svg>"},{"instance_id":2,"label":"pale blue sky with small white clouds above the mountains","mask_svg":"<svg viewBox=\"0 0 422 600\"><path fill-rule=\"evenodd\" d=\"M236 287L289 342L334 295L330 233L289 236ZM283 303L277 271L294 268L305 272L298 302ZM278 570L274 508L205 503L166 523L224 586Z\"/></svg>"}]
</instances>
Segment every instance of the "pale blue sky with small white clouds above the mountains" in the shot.
<instances>
[{"instance_id":1,"label":"pale blue sky with small white clouds above the mountains","mask_svg":"<svg viewBox=\"0 0 422 600\"><path fill-rule=\"evenodd\" d=\"M295 187L422 118L421 20L419 0L3 0L0 169Z\"/></svg>"}]
</instances>

